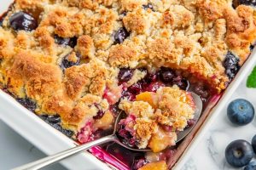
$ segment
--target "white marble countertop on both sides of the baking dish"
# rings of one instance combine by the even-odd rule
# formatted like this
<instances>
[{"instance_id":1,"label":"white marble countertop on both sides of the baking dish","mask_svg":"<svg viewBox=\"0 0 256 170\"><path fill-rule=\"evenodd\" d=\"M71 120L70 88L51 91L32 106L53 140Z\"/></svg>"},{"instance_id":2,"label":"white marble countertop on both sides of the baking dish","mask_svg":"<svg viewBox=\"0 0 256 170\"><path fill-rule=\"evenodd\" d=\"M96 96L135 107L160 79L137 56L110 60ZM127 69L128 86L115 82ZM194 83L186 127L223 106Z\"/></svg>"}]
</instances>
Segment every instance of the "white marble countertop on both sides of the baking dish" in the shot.
<instances>
[{"instance_id":1,"label":"white marble countertop on both sides of the baking dish","mask_svg":"<svg viewBox=\"0 0 256 170\"><path fill-rule=\"evenodd\" d=\"M246 78L236 90L236 94L233 94L232 99L248 99L256 109L256 88L246 88ZM251 141L254 134L256 134L255 119L253 123L244 127L233 126L227 119L225 107L182 170L235 170L224 159L225 147L235 139ZM0 121L0 170L10 169L41 157L44 157L41 151ZM65 170L60 165L45 169Z\"/></svg>"}]
</instances>

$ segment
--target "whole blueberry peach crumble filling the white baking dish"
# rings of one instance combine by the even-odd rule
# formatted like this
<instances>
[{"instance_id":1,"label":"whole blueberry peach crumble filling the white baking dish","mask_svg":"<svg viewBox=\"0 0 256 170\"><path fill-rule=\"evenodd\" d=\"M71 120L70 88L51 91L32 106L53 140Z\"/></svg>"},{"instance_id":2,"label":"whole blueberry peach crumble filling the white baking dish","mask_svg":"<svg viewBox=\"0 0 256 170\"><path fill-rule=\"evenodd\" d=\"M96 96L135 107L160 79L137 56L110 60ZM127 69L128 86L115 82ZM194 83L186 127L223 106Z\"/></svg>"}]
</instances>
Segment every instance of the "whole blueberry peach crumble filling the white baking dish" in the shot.
<instances>
[{"instance_id":1,"label":"whole blueberry peach crumble filling the white baking dish","mask_svg":"<svg viewBox=\"0 0 256 170\"><path fill-rule=\"evenodd\" d=\"M0 88L80 143L111 133L124 111L119 137L155 153L116 144L90 151L119 159L127 169L171 168L196 133L176 144L178 131L195 123L189 92L207 108L251 53L254 5L16 0L0 19Z\"/></svg>"}]
</instances>

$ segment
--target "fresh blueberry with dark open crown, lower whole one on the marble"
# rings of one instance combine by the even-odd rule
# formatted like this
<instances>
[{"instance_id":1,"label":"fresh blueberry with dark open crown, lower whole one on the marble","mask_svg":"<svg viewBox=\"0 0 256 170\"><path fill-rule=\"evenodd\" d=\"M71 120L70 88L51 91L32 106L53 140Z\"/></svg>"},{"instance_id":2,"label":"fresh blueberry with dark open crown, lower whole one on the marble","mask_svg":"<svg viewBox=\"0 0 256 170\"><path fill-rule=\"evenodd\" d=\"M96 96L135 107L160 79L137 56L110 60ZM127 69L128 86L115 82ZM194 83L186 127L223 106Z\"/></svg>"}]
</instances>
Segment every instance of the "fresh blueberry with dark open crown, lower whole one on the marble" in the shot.
<instances>
[{"instance_id":1,"label":"fresh blueberry with dark open crown, lower whole one on the marble","mask_svg":"<svg viewBox=\"0 0 256 170\"><path fill-rule=\"evenodd\" d=\"M253 147L246 140L235 140L227 146L225 157L233 167L246 166L253 158Z\"/></svg>"}]
</instances>

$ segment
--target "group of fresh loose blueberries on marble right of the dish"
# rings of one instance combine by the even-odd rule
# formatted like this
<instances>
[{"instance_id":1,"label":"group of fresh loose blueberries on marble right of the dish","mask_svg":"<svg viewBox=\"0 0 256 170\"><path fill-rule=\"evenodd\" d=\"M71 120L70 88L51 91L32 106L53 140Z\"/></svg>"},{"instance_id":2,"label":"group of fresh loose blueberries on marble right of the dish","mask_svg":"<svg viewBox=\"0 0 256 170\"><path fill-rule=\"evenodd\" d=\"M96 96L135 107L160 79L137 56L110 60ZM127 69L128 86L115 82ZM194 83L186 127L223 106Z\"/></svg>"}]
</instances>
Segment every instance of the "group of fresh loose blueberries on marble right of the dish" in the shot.
<instances>
[{"instance_id":1,"label":"group of fresh loose blueberries on marble right of the dish","mask_svg":"<svg viewBox=\"0 0 256 170\"><path fill-rule=\"evenodd\" d=\"M235 99L228 106L227 116L230 122L238 126L247 125L254 118L253 105L246 99ZM231 142L225 150L226 161L233 167L244 167L244 170L256 169L256 161L252 161L254 154L256 154L256 135L251 144L239 139Z\"/></svg>"}]
</instances>

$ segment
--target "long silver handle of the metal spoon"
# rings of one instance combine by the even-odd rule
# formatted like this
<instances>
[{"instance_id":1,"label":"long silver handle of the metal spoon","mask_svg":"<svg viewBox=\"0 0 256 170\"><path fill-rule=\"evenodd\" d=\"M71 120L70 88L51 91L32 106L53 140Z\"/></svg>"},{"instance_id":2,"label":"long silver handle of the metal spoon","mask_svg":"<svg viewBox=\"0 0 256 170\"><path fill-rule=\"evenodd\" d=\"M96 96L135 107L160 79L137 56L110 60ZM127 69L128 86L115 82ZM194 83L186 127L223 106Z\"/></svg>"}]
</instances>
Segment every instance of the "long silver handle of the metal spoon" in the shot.
<instances>
[{"instance_id":1,"label":"long silver handle of the metal spoon","mask_svg":"<svg viewBox=\"0 0 256 170\"><path fill-rule=\"evenodd\" d=\"M116 138L115 135L109 135L109 136L103 137L101 139L96 139L96 140L88 142L86 144L81 144L81 145L75 146L71 149L61 151L59 153L56 153L55 155L44 157L38 161L33 161L33 162L23 165L21 167L16 167L13 170L37 170L42 167L47 167L47 166L55 163L56 161L61 161L69 156L78 154L81 151L88 150L93 146L108 143L110 141L113 141L115 138Z\"/></svg>"}]
</instances>

